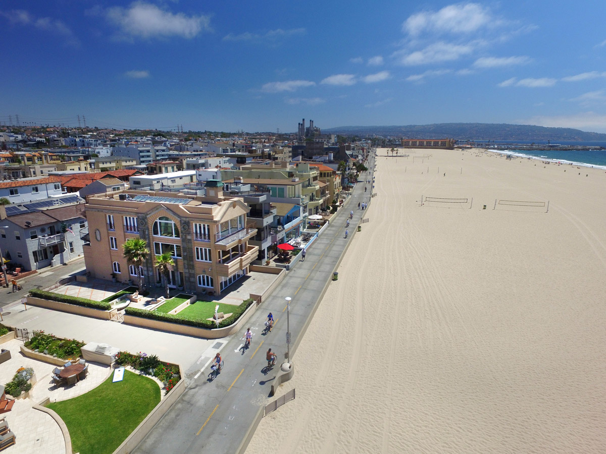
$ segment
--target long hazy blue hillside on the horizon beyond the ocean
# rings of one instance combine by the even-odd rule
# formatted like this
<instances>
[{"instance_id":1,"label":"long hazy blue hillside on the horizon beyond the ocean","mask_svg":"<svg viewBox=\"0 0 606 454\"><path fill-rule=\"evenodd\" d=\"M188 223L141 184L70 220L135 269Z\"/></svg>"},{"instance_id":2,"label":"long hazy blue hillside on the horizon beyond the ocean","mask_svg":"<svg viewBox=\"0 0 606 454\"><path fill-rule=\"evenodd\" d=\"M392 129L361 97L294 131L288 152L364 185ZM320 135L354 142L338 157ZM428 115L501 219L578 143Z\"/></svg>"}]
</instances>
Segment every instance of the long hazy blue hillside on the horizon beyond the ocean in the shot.
<instances>
[{"instance_id":1,"label":"long hazy blue hillside on the horizon beyond the ocean","mask_svg":"<svg viewBox=\"0 0 606 454\"><path fill-rule=\"evenodd\" d=\"M325 134L408 137L410 139L453 138L457 140L590 140L606 141L606 134L572 128L546 128L506 123L437 123L407 126L343 126L323 129Z\"/></svg>"}]
</instances>

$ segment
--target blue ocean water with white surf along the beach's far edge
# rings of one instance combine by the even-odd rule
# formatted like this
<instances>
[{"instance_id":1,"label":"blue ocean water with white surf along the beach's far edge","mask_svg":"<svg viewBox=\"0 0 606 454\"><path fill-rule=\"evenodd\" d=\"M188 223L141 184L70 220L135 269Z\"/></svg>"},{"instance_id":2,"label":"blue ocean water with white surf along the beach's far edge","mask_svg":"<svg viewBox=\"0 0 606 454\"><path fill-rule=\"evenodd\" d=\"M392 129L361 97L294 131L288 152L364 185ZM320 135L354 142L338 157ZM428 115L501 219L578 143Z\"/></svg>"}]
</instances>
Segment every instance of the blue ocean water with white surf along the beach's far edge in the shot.
<instances>
[{"instance_id":1,"label":"blue ocean water with white surf along the beach's far edge","mask_svg":"<svg viewBox=\"0 0 606 454\"><path fill-rule=\"evenodd\" d=\"M501 143L506 143L501 142ZM514 143L530 145L532 142L516 141ZM606 169L606 150L589 150L591 147L602 146L606 148L606 142L557 142L561 145L587 146L585 150L514 150L507 148L499 150L490 149L496 153L513 154L513 156L530 157L531 159L550 160L553 162L562 162L565 164L573 163L574 165L584 167L598 167ZM547 142L534 142L535 145L547 145ZM496 144L499 145L498 143Z\"/></svg>"}]
</instances>

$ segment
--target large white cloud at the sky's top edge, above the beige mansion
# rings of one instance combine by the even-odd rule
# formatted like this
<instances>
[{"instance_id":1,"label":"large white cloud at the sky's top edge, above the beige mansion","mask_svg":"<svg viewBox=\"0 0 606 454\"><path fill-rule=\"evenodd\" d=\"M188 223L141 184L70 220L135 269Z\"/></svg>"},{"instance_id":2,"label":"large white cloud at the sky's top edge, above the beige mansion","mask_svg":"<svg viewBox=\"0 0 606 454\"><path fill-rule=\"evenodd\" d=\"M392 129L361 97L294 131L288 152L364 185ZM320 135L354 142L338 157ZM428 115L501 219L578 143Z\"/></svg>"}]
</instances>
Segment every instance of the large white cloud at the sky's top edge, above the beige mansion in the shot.
<instances>
[{"instance_id":1,"label":"large white cloud at the sky's top edge, above the beige mansion","mask_svg":"<svg viewBox=\"0 0 606 454\"><path fill-rule=\"evenodd\" d=\"M210 30L210 16L174 14L142 1L133 2L128 8L108 8L105 17L130 38L179 36L191 39L202 30Z\"/></svg>"}]
</instances>

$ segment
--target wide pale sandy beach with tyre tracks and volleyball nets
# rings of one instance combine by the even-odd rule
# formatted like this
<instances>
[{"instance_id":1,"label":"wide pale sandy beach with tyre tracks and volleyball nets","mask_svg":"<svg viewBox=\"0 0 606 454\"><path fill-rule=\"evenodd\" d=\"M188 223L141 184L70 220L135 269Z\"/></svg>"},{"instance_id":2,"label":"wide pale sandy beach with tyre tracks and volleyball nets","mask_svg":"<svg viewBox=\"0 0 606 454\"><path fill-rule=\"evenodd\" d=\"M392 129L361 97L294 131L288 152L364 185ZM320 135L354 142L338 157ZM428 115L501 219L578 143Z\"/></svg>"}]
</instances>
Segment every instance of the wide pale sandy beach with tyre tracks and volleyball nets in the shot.
<instances>
[{"instance_id":1,"label":"wide pale sandy beach with tyre tracks and volleyball nets","mask_svg":"<svg viewBox=\"0 0 606 454\"><path fill-rule=\"evenodd\" d=\"M386 152L247 454L605 453L604 170Z\"/></svg>"}]
</instances>

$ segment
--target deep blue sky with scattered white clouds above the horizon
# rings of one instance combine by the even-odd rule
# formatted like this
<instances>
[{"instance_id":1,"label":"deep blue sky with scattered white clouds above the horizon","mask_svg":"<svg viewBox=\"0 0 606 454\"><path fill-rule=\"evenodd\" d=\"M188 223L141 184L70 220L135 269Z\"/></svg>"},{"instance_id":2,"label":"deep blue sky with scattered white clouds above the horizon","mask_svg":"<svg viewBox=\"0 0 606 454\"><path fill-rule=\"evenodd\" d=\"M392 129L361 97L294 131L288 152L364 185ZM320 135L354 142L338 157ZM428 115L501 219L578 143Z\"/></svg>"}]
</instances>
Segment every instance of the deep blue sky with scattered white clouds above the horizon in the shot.
<instances>
[{"instance_id":1,"label":"deep blue sky with scattered white clouds above the horizon","mask_svg":"<svg viewBox=\"0 0 606 454\"><path fill-rule=\"evenodd\" d=\"M606 132L606 8L566 3L8 0L0 122Z\"/></svg>"}]
</instances>

